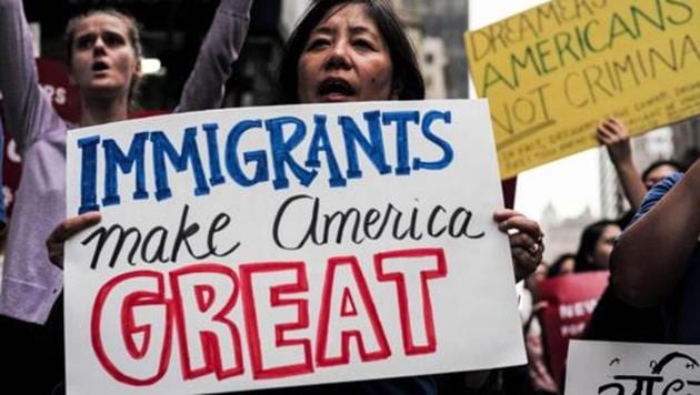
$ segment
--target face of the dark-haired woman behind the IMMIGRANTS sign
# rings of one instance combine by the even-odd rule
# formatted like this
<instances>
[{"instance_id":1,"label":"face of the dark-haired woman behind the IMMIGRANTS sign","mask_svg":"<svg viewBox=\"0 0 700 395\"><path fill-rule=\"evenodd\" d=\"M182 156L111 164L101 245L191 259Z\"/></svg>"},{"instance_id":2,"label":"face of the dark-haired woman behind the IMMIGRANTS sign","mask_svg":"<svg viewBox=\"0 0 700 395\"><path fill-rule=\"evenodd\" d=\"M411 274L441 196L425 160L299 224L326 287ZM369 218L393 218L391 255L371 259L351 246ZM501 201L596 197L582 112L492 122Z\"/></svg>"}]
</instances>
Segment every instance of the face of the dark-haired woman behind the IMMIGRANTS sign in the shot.
<instances>
[{"instance_id":1,"label":"face of the dark-haired woman behind the IMMIGRANTS sign","mask_svg":"<svg viewBox=\"0 0 700 395\"><path fill-rule=\"evenodd\" d=\"M298 70L301 103L394 99L391 55L366 4L329 11L311 31Z\"/></svg>"}]
</instances>

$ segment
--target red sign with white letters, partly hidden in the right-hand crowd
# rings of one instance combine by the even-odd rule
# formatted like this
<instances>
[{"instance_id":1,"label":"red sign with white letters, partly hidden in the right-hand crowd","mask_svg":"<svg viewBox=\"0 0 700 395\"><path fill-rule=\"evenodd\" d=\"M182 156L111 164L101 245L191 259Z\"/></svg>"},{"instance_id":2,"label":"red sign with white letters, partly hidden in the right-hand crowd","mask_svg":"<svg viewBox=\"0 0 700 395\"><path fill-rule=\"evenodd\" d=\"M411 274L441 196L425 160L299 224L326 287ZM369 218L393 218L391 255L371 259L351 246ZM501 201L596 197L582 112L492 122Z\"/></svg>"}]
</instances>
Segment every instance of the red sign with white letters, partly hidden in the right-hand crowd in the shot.
<instances>
[{"instance_id":1,"label":"red sign with white letters, partly hidden in the right-hand crowd","mask_svg":"<svg viewBox=\"0 0 700 395\"><path fill-rule=\"evenodd\" d=\"M547 364L556 383L561 383L570 338L583 334L598 300L608 285L608 271L568 274L539 284L546 306L538 312L542 325Z\"/></svg>"}]
</instances>

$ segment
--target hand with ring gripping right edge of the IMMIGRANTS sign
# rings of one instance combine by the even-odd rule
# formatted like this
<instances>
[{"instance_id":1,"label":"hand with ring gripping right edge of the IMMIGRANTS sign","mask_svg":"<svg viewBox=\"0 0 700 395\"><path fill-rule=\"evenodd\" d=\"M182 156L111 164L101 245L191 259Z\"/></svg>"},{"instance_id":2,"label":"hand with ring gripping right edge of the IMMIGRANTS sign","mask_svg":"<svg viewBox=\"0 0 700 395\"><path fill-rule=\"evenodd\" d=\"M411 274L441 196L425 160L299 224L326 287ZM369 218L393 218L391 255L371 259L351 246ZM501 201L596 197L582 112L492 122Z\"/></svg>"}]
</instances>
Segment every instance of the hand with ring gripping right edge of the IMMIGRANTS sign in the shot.
<instances>
[{"instance_id":1,"label":"hand with ring gripping right edge of the IMMIGRANTS sign","mask_svg":"<svg viewBox=\"0 0 700 395\"><path fill-rule=\"evenodd\" d=\"M493 221L498 229L508 234L510 253L513 257L516 280L520 281L530 275L542 262L544 244L540 224L513 210L497 210Z\"/></svg>"}]
</instances>

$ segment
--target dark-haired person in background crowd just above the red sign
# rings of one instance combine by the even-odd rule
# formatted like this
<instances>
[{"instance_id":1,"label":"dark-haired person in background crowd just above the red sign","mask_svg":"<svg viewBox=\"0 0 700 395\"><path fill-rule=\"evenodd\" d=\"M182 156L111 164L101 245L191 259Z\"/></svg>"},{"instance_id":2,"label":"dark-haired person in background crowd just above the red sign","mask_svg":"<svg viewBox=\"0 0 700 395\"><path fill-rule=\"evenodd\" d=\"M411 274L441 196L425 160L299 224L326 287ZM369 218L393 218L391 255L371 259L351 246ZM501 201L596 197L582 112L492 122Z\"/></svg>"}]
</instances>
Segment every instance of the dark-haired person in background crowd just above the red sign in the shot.
<instances>
[{"instance_id":1,"label":"dark-haired person in background crowd just above the red sign","mask_svg":"<svg viewBox=\"0 0 700 395\"><path fill-rule=\"evenodd\" d=\"M611 220L600 220L586 226L576 253L574 272L608 270L608 260L620 234L620 226Z\"/></svg>"}]
</instances>

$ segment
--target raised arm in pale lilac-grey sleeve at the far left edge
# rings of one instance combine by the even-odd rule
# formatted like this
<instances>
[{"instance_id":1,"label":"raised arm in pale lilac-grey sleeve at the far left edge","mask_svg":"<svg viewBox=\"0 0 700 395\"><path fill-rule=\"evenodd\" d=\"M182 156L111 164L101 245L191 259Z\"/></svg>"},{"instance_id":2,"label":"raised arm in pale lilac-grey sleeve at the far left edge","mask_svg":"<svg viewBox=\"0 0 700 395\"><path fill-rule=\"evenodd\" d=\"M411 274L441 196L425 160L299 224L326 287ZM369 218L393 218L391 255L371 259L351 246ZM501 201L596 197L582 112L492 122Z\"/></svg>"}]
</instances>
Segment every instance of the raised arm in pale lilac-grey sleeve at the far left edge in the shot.
<instances>
[{"instance_id":1,"label":"raised arm in pale lilac-grey sleeve at the far left edge","mask_svg":"<svg viewBox=\"0 0 700 395\"><path fill-rule=\"evenodd\" d=\"M20 0L0 0L0 91L7 125L23 153L46 130L63 123L42 94L31 34Z\"/></svg>"}]
</instances>

